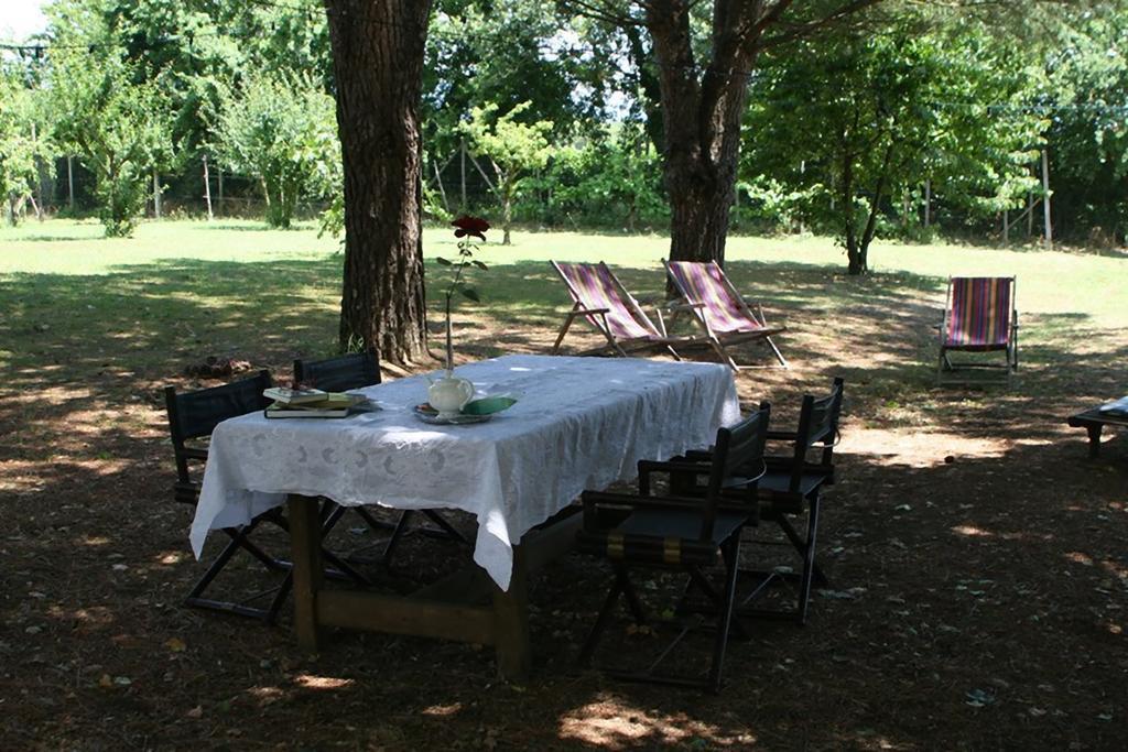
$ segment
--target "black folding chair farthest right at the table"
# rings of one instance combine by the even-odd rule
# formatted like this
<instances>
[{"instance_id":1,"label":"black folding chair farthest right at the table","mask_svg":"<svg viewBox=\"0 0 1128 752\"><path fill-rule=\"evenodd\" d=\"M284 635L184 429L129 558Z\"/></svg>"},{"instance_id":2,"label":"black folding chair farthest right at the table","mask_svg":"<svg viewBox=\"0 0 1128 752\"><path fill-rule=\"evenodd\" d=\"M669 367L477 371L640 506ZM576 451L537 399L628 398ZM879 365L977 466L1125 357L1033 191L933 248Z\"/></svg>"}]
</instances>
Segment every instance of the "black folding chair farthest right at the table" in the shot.
<instances>
[{"instance_id":1,"label":"black folding chair farthest right at the table","mask_svg":"<svg viewBox=\"0 0 1128 752\"><path fill-rule=\"evenodd\" d=\"M790 444L788 454L768 454L765 457L767 471L759 481L759 517L760 522L774 522L783 531L786 540L756 540L759 545L777 545L792 549L802 563L800 572L794 567L781 564L772 569L742 569L741 575L755 578L752 591L742 599L738 613L741 617L761 617L769 619L794 620L807 623L808 607L812 585L828 584L826 574L816 561L816 543L818 539L820 492L823 486L834 484L834 451L838 440L838 418L843 404L843 379L837 378L830 392L816 398L812 395L803 397L799 414L799 427L795 431L769 431L768 441ZM811 452L817 452L814 461L809 459ZM687 452L684 459L703 460L711 457L706 452ZM682 458L676 458L682 459ZM671 476L673 493L699 496L699 481L688 474ZM792 524L792 519L807 514L805 534ZM761 527L763 529L763 527ZM795 586L794 608L758 608L754 605L761 595L768 593L768 587L778 583Z\"/></svg>"}]
</instances>

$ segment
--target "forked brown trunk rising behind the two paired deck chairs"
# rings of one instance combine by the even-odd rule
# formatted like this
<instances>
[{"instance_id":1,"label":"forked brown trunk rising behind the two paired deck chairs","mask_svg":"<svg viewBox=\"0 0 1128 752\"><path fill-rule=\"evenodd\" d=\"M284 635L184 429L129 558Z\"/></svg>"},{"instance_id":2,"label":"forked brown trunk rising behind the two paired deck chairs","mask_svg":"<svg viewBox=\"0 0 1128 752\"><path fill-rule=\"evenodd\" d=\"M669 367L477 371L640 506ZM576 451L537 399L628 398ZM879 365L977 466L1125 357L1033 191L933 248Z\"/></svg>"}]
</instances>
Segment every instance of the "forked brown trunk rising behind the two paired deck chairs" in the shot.
<instances>
[{"instance_id":1,"label":"forked brown trunk rising behind the two paired deck chairs","mask_svg":"<svg viewBox=\"0 0 1128 752\"><path fill-rule=\"evenodd\" d=\"M646 6L662 91L670 258L724 263L740 118L763 32L763 8L758 2L716 0L713 55L699 76L689 29L691 5L654 0Z\"/></svg>"}]
</instances>

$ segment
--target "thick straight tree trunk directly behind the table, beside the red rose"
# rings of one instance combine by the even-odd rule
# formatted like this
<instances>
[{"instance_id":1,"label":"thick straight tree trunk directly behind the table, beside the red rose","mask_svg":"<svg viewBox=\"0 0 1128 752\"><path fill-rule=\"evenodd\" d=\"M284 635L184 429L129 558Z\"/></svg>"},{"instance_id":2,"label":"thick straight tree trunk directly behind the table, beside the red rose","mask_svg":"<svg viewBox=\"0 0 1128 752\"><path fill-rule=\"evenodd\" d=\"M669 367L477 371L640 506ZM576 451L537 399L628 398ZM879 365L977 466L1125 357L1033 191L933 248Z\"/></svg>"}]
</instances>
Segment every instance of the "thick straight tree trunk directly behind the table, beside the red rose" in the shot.
<instances>
[{"instance_id":1,"label":"thick straight tree trunk directly behind the table, beside the red rose","mask_svg":"<svg viewBox=\"0 0 1128 752\"><path fill-rule=\"evenodd\" d=\"M341 347L426 350L420 90L431 0L325 0L345 179Z\"/></svg>"}]
</instances>

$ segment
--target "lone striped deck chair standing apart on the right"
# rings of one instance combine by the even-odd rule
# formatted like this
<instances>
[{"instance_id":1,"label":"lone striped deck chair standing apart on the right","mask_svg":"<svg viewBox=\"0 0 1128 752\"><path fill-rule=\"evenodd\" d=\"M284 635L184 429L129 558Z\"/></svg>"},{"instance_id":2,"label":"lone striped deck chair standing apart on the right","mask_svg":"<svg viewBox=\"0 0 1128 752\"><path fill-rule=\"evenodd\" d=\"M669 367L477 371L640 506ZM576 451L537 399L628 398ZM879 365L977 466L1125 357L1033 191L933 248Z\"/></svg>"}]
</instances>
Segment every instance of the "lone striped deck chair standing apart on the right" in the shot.
<instances>
[{"instance_id":1,"label":"lone striped deck chair standing apart on the right","mask_svg":"<svg viewBox=\"0 0 1128 752\"><path fill-rule=\"evenodd\" d=\"M1006 369L1006 383L1019 368L1019 311L1014 306L1014 277L950 277L944 321L940 327L940 365L936 383L961 368ZM950 351L1002 352L1003 364L953 363ZM951 379L950 379L951 380Z\"/></svg>"}]
</instances>

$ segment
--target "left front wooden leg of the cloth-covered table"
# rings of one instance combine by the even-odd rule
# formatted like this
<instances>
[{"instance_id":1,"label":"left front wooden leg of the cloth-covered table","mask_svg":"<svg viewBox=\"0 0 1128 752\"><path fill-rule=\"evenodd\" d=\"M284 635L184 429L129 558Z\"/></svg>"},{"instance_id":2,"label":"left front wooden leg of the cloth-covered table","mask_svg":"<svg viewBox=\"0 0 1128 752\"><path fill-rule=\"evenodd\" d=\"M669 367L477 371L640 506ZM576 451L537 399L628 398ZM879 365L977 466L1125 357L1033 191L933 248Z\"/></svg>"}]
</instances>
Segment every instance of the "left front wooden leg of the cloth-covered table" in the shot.
<instances>
[{"instance_id":1,"label":"left front wooden leg of the cloth-covered table","mask_svg":"<svg viewBox=\"0 0 1128 752\"><path fill-rule=\"evenodd\" d=\"M325 575L318 499L290 494L287 498L287 516L290 522L290 555L293 560L293 631L302 648L317 652L317 593Z\"/></svg>"}]
</instances>

